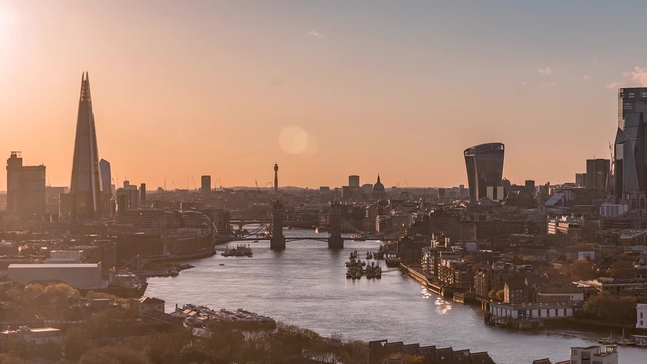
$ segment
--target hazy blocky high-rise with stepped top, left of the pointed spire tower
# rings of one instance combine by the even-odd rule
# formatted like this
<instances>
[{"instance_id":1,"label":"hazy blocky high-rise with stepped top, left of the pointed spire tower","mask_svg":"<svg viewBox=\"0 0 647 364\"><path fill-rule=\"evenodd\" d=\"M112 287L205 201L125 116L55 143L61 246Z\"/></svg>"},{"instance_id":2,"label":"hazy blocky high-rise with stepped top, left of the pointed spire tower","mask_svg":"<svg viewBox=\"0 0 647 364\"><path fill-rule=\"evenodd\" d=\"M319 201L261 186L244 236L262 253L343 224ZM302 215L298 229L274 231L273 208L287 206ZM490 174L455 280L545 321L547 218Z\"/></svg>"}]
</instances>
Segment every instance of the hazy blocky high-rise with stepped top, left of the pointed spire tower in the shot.
<instances>
[{"instance_id":1,"label":"hazy blocky high-rise with stepped top, left of the pointed spire tower","mask_svg":"<svg viewBox=\"0 0 647 364\"><path fill-rule=\"evenodd\" d=\"M7 210L26 220L45 215L45 166L23 166L20 152L6 160Z\"/></svg>"}]
</instances>

